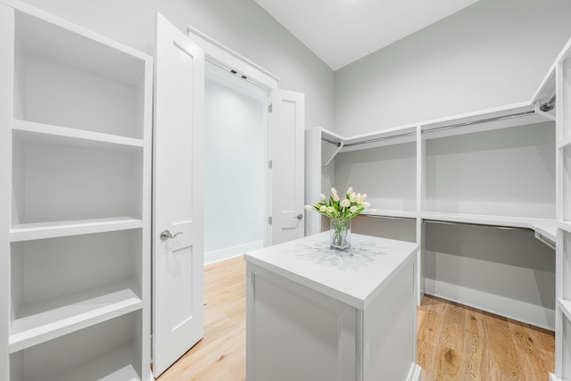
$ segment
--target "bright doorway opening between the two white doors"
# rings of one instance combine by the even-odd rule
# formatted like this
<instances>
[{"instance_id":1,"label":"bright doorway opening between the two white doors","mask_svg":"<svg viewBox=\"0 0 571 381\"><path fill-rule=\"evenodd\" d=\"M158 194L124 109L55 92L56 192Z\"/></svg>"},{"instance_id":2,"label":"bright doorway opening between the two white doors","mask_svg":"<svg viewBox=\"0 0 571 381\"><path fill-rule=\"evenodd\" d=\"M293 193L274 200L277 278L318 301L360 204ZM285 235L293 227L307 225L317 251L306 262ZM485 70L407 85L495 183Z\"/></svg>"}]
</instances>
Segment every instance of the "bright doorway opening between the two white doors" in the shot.
<instances>
[{"instance_id":1,"label":"bright doorway opening between the two white doors","mask_svg":"<svg viewBox=\"0 0 571 381\"><path fill-rule=\"evenodd\" d=\"M269 90L212 62L205 69L204 263L210 263L269 244Z\"/></svg>"}]
</instances>

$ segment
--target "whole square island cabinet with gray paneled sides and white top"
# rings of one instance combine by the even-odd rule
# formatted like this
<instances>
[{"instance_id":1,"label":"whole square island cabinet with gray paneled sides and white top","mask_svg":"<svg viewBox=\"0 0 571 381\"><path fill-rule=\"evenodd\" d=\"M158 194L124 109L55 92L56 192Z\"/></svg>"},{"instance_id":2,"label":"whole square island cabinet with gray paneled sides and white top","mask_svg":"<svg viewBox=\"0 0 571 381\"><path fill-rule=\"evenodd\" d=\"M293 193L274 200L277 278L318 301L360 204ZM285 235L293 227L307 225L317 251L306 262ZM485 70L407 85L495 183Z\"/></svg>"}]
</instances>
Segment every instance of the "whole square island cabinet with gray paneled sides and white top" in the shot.
<instances>
[{"instance_id":1,"label":"whole square island cabinet with gray paneled sides and white top","mask_svg":"<svg viewBox=\"0 0 571 381\"><path fill-rule=\"evenodd\" d=\"M245 253L248 381L418 380L418 249L325 232Z\"/></svg>"}]
</instances>

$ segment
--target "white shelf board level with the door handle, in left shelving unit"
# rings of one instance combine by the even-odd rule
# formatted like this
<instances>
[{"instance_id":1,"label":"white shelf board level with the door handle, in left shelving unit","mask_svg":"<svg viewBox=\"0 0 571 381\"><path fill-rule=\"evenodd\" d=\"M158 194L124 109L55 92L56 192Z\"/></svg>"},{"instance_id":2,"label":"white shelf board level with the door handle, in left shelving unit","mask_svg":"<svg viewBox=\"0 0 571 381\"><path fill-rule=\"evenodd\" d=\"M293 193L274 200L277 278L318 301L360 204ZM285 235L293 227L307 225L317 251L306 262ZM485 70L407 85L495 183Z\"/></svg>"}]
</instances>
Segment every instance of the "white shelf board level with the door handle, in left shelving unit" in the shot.
<instances>
[{"instance_id":1,"label":"white shelf board level with the door handle, in left shelving unit","mask_svg":"<svg viewBox=\"0 0 571 381\"><path fill-rule=\"evenodd\" d=\"M117 217L109 219L76 219L70 221L38 222L12 226L10 242L32 239L79 236L82 234L143 228L141 219Z\"/></svg>"}]
</instances>

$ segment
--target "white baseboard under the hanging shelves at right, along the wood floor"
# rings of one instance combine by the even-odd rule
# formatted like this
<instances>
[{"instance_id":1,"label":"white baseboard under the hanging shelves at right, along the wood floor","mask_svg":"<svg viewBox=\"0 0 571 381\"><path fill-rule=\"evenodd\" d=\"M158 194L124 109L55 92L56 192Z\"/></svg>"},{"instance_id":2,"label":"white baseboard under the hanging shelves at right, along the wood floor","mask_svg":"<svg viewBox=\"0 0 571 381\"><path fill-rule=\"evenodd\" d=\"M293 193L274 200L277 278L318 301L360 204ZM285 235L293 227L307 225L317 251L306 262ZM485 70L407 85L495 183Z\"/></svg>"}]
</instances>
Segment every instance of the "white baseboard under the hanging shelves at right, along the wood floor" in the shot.
<instances>
[{"instance_id":1,"label":"white baseboard under the hanging shelves at right, along the wood floor","mask_svg":"<svg viewBox=\"0 0 571 381\"><path fill-rule=\"evenodd\" d=\"M555 310L505 296L425 279L425 293L494 313L509 319L555 331Z\"/></svg>"}]
</instances>

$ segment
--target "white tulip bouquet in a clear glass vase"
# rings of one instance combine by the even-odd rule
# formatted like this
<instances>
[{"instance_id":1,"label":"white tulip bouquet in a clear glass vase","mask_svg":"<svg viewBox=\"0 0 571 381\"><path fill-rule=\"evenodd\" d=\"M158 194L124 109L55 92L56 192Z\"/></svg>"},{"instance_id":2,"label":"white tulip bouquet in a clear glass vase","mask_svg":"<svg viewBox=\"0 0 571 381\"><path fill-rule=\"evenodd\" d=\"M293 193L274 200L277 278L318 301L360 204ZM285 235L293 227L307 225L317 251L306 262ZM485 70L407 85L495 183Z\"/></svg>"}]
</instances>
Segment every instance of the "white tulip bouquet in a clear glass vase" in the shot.
<instances>
[{"instance_id":1,"label":"white tulip bouquet in a clear glass vase","mask_svg":"<svg viewBox=\"0 0 571 381\"><path fill-rule=\"evenodd\" d=\"M319 211L319 213L331 219L331 247L346 249L351 245L350 220L368 208L367 194L353 192L353 188L347 189L343 199L337 194L335 188L331 188L331 195L319 195L320 201L313 205L305 205L307 211Z\"/></svg>"}]
</instances>

